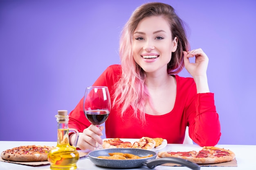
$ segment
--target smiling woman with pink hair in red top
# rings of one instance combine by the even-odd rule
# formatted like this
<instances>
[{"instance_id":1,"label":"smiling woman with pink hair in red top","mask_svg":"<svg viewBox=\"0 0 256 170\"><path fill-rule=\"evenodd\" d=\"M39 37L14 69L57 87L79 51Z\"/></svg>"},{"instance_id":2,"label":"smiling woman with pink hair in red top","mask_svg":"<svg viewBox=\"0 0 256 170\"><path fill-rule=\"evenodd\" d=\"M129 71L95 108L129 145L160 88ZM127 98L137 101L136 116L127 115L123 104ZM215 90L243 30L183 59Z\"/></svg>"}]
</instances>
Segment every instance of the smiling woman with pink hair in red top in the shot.
<instances>
[{"instance_id":1,"label":"smiling woman with pink hair in red top","mask_svg":"<svg viewBox=\"0 0 256 170\"><path fill-rule=\"evenodd\" d=\"M162 137L182 144L189 126L189 136L200 146L218 143L220 122L207 83L208 57L202 49L189 51L173 7L158 2L138 7L122 31L119 55L121 65L109 66L93 84L110 91L107 138ZM177 75L184 66L193 78ZM80 132L77 147L93 150L96 142L102 144L103 127L86 119L83 99L69 116L69 127Z\"/></svg>"}]
</instances>

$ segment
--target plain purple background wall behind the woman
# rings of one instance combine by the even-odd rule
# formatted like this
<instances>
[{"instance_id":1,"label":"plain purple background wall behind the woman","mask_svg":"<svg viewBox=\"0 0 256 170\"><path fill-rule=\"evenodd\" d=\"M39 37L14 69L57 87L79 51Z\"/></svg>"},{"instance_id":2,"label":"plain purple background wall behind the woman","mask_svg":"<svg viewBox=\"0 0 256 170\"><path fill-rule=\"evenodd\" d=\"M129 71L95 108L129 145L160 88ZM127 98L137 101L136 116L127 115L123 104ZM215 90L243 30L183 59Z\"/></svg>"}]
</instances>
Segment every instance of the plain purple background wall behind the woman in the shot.
<instances>
[{"instance_id":1,"label":"plain purple background wall behind the woman","mask_svg":"<svg viewBox=\"0 0 256 170\"><path fill-rule=\"evenodd\" d=\"M85 87L119 63L121 28L144 2L0 0L0 140L56 141L57 111L72 111ZM209 57L219 144L255 145L256 1L159 2L189 25L191 49Z\"/></svg>"}]
</instances>

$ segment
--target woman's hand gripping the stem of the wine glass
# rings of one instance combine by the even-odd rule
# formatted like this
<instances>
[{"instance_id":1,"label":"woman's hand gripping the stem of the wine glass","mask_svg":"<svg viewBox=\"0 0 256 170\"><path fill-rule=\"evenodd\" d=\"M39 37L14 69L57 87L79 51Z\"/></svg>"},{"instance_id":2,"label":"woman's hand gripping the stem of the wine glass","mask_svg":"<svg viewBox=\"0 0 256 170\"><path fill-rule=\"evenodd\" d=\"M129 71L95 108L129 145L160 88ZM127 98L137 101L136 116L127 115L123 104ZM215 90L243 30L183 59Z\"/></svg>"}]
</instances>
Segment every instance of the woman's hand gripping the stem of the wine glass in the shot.
<instances>
[{"instance_id":1,"label":"woman's hand gripping the stem of the wine glass","mask_svg":"<svg viewBox=\"0 0 256 170\"><path fill-rule=\"evenodd\" d=\"M99 144L103 144L101 139L103 126L99 128L93 124L91 124L88 128L83 130L83 133L79 133L79 138L76 147L81 150L95 150L96 142ZM70 144L73 145L75 134L70 135Z\"/></svg>"}]
</instances>

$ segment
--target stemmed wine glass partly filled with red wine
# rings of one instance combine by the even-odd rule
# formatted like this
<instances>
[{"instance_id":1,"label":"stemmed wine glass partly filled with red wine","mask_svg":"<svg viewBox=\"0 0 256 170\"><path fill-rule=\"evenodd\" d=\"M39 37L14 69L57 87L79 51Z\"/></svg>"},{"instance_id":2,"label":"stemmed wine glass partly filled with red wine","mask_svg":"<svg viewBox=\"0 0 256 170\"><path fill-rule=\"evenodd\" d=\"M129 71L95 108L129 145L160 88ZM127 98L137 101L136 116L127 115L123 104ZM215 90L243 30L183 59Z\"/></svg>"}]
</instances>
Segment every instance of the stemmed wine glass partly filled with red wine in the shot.
<instances>
[{"instance_id":1,"label":"stemmed wine glass partly filled with red wine","mask_svg":"<svg viewBox=\"0 0 256 170\"><path fill-rule=\"evenodd\" d=\"M90 86L85 90L83 111L86 118L99 127L108 119L111 109L110 94L106 86ZM99 149L98 142L95 150Z\"/></svg>"}]
</instances>

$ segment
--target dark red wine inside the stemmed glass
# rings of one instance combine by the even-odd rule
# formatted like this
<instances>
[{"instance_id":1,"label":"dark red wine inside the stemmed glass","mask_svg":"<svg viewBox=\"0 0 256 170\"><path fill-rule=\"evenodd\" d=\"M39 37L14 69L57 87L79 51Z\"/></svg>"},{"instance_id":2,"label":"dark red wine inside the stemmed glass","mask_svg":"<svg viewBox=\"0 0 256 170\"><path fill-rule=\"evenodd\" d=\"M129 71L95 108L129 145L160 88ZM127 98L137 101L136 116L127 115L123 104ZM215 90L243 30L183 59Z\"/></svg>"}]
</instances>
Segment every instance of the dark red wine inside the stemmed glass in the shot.
<instances>
[{"instance_id":1,"label":"dark red wine inside the stemmed glass","mask_svg":"<svg viewBox=\"0 0 256 170\"><path fill-rule=\"evenodd\" d=\"M90 110L85 111L86 118L94 125L100 125L108 119L109 111L107 110Z\"/></svg>"}]
</instances>

